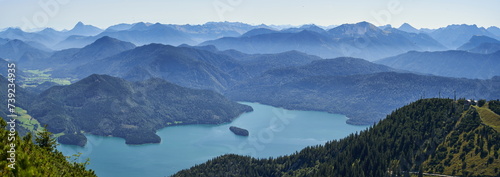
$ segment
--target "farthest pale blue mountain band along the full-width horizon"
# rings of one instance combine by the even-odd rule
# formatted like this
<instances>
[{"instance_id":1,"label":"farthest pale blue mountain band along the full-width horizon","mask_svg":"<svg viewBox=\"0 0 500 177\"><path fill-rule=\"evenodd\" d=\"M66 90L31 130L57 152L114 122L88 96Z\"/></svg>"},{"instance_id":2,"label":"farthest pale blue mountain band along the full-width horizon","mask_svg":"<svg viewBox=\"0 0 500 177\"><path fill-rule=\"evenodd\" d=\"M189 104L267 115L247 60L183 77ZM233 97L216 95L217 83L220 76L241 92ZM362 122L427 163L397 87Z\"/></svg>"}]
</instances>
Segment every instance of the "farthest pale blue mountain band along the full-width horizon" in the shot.
<instances>
[{"instance_id":1,"label":"farthest pale blue mountain band along the full-width horizon","mask_svg":"<svg viewBox=\"0 0 500 177\"><path fill-rule=\"evenodd\" d=\"M69 31L47 28L39 32L24 32L8 28L0 32L0 38L19 39L40 46L37 48L52 50L82 48L101 37L109 36L138 46L150 43L175 46L213 44L221 50L236 49L246 53L297 50L326 58L350 56L374 60L410 50L456 49L474 35L498 39L498 31L496 27L485 29L475 25L450 25L436 30L417 30L407 23L398 29L379 29L367 22L344 24L326 30L315 25L277 30L266 25L232 22L211 22L203 25L140 22L118 24L103 30L79 22Z\"/></svg>"}]
</instances>

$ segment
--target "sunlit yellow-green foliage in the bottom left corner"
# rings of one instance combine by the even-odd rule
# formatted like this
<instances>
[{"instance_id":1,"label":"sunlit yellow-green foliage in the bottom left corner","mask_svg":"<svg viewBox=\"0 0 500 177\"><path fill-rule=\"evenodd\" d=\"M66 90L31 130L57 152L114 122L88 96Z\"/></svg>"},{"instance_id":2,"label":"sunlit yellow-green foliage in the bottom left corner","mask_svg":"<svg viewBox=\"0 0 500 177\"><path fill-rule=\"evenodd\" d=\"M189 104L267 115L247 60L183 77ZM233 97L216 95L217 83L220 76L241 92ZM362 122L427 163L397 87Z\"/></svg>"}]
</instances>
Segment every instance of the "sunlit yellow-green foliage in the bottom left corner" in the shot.
<instances>
[{"instance_id":1,"label":"sunlit yellow-green foliage in the bottom left corner","mask_svg":"<svg viewBox=\"0 0 500 177\"><path fill-rule=\"evenodd\" d=\"M51 133L40 132L36 141L32 141L31 133L25 137L15 136L13 141L15 148L15 169L9 168L11 141L9 141L9 131L5 130L7 124L0 119L0 176L2 177L31 177L31 176L96 176L92 170L86 170L85 163L68 161L61 152L55 150L54 139L50 138ZM74 157L78 157L75 155Z\"/></svg>"}]
</instances>

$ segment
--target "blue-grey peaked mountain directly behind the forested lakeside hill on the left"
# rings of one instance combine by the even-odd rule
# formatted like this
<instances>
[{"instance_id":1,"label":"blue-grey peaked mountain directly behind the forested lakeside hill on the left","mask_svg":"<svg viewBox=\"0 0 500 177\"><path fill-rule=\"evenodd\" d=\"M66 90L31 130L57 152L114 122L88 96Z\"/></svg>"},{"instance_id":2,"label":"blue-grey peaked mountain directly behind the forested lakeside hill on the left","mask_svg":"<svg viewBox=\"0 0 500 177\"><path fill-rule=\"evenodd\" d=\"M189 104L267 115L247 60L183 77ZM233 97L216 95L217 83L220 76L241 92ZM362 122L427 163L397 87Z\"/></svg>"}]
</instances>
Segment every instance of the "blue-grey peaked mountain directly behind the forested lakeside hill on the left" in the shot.
<instances>
[{"instance_id":1,"label":"blue-grey peaked mountain directly behind the forested lakeside hill on the left","mask_svg":"<svg viewBox=\"0 0 500 177\"><path fill-rule=\"evenodd\" d=\"M81 79L98 73L132 81L163 78L190 88L221 92L268 69L320 59L297 51L250 55L219 51L213 46L150 44L134 48L130 43L103 37L82 49L55 52L41 60L47 64L39 66L53 68L51 73L58 77Z\"/></svg>"}]
</instances>

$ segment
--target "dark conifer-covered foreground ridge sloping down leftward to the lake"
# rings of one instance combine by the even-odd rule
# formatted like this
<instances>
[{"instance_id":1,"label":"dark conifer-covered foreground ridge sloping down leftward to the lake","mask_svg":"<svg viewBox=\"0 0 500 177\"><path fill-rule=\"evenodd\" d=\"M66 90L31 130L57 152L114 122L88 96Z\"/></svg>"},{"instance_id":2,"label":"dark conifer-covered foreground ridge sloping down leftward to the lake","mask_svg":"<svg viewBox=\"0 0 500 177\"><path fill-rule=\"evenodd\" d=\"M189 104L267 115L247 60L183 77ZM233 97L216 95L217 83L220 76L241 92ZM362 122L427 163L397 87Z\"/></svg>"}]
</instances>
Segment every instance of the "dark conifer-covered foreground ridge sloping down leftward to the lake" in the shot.
<instances>
[{"instance_id":1,"label":"dark conifer-covered foreground ridge sloping down leftward to the lake","mask_svg":"<svg viewBox=\"0 0 500 177\"><path fill-rule=\"evenodd\" d=\"M224 155L174 176L498 176L500 134L464 102L418 100L342 140L279 158Z\"/></svg>"}]
</instances>

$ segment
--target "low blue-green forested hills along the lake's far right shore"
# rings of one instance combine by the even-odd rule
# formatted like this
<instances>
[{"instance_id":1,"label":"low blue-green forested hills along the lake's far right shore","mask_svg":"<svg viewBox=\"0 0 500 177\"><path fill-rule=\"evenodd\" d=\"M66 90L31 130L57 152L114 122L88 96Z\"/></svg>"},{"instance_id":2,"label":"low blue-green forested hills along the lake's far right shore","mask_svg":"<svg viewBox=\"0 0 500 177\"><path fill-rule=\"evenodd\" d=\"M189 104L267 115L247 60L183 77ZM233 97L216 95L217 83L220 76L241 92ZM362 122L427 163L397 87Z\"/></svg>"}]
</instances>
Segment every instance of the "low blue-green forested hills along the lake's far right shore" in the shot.
<instances>
[{"instance_id":1,"label":"low blue-green forested hills along the lake's far right shore","mask_svg":"<svg viewBox=\"0 0 500 177\"><path fill-rule=\"evenodd\" d=\"M295 69L268 71L233 87L225 95L232 100L286 109L340 113L349 117L349 124L362 125L373 124L394 109L419 98L452 98L453 93L465 98L500 98L500 89L497 89L500 88L500 77L473 80L383 72L375 64L367 65L365 72L361 72L366 73L372 68L375 71L372 74L339 76L335 71L324 71L322 65L314 63L326 64L327 60ZM310 75L314 73L321 75Z\"/></svg>"}]
</instances>

